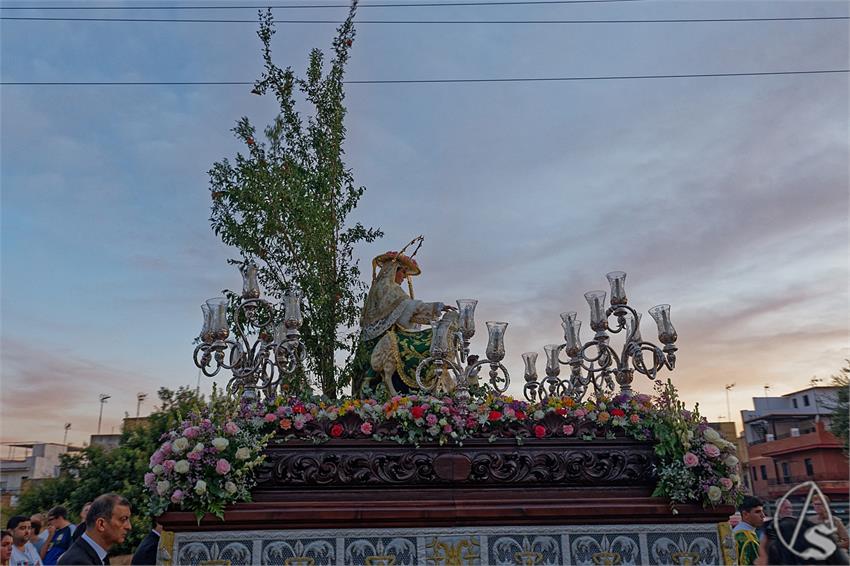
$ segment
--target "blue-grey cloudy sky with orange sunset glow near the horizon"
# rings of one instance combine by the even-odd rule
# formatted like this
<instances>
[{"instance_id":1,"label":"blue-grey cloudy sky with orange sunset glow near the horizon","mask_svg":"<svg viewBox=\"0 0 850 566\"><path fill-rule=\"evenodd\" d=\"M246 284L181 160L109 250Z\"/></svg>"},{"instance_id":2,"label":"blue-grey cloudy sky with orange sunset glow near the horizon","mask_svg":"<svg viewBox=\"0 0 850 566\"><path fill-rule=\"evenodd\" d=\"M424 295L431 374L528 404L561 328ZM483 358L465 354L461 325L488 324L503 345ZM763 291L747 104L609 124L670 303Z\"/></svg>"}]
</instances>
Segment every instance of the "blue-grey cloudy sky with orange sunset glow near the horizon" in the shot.
<instances>
[{"instance_id":1,"label":"blue-grey cloudy sky with orange sunset glow near the horizon","mask_svg":"<svg viewBox=\"0 0 850 566\"><path fill-rule=\"evenodd\" d=\"M346 10L275 13L339 21ZM251 19L256 10L3 16ZM812 16L846 17L848 6L364 7L358 19ZM4 20L2 81L253 81L256 27ZM280 24L278 64L302 72L334 27ZM847 69L849 50L847 20L363 23L347 78ZM561 311L587 321L583 293L607 289L612 270L628 273L630 302L644 313L672 305L680 350L669 375L709 420L726 418L725 384L736 384L737 415L765 384L783 394L813 376L828 381L850 357L849 92L847 73L349 85L346 159L367 189L352 219L385 232L358 250L364 274L373 256L423 234L417 297L479 299L482 354L484 321L509 321L515 385L520 354L542 358L544 344L562 341ZM206 172L245 151L230 132L241 116L262 127L276 105L250 86L6 85L0 99L0 437L61 442L70 422L69 440L82 444L96 432L98 394L112 396L110 432L125 411L135 415L137 392L149 394L146 414L159 387L195 385L199 305L240 284L226 264L237 252L209 228ZM655 334L646 314L642 330ZM651 383L639 377L636 388Z\"/></svg>"}]
</instances>

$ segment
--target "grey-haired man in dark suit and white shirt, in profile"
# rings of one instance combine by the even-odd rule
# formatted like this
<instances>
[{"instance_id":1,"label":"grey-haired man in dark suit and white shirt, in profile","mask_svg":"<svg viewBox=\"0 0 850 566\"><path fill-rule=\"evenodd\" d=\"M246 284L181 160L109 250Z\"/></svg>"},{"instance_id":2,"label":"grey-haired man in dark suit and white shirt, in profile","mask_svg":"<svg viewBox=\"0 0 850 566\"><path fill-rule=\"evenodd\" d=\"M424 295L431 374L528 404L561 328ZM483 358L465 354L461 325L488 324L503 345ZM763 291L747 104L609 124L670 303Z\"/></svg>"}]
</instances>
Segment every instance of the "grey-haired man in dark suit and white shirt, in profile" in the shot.
<instances>
[{"instance_id":1,"label":"grey-haired man in dark suit and white shirt, in profile","mask_svg":"<svg viewBox=\"0 0 850 566\"><path fill-rule=\"evenodd\" d=\"M59 558L57 564L109 564L109 549L124 542L130 528L130 502L115 493L101 495L92 502L86 516L86 532Z\"/></svg>"}]
</instances>

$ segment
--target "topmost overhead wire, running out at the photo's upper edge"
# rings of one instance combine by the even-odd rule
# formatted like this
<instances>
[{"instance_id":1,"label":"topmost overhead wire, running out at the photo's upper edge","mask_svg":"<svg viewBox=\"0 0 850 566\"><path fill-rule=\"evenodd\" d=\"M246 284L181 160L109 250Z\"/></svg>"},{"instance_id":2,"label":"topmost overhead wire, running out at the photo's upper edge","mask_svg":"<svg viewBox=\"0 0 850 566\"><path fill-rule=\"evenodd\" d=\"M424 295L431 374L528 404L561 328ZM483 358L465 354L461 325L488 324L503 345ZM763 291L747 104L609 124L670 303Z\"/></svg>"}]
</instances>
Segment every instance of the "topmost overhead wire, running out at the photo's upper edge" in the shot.
<instances>
[{"instance_id":1,"label":"topmost overhead wire, running out at the photo's upper edge","mask_svg":"<svg viewBox=\"0 0 850 566\"><path fill-rule=\"evenodd\" d=\"M610 4L616 2L647 2L649 0L504 0L490 2L392 2L387 4L361 3L357 8L440 8L453 6L545 6L560 4ZM261 4L230 6L8 6L2 10L303 10L316 8L350 8L350 4Z\"/></svg>"}]
</instances>

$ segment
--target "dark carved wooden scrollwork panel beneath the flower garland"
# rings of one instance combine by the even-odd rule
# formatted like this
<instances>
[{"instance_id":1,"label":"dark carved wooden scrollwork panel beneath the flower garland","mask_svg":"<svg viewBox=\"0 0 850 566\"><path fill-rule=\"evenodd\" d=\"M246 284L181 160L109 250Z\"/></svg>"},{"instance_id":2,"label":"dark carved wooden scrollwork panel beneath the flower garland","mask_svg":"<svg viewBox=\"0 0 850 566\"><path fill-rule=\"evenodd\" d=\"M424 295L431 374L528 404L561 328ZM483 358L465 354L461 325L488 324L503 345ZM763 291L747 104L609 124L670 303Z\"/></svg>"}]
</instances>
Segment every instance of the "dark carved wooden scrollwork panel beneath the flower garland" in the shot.
<instances>
[{"instance_id":1,"label":"dark carved wooden scrollwork panel beneath the flower garland","mask_svg":"<svg viewBox=\"0 0 850 566\"><path fill-rule=\"evenodd\" d=\"M344 440L322 445L274 443L257 488L604 487L654 485L652 446L626 439L473 440L463 446L420 446Z\"/></svg>"}]
</instances>

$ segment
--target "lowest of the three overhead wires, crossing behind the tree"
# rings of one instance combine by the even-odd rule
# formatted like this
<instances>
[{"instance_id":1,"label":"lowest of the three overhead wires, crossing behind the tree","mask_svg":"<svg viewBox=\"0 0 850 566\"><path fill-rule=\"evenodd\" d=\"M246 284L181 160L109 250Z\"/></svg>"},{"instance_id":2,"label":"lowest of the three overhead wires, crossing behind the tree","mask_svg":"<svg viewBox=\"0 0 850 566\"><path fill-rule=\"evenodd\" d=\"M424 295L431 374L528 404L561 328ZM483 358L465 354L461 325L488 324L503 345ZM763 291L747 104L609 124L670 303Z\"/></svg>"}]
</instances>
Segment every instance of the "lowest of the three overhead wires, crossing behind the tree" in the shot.
<instances>
[{"instance_id":1,"label":"lowest of the three overhead wires, crossing behind the tree","mask_svg":"<svg viewBox=\"0 0 850 566\"><path fill-rule=\"evenodd\" d=\"M822 69L811 71L765 71L758 73L689 73L681 75L608 75L575 77L508 77L492 79L372 79L343 81L345 84L453 84L453 83L520 83L562 81L612 81L639 79L695 79L710 77L765 77L780 75L817 75L850 73L850 69ZM248 86L253 81L3 81L0 86Z\"/></svg>"}]
</instances>

